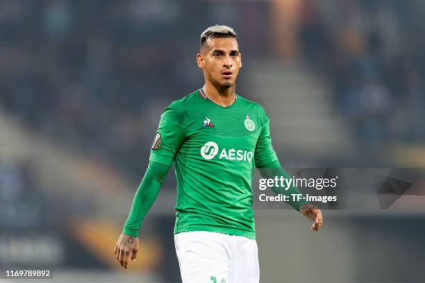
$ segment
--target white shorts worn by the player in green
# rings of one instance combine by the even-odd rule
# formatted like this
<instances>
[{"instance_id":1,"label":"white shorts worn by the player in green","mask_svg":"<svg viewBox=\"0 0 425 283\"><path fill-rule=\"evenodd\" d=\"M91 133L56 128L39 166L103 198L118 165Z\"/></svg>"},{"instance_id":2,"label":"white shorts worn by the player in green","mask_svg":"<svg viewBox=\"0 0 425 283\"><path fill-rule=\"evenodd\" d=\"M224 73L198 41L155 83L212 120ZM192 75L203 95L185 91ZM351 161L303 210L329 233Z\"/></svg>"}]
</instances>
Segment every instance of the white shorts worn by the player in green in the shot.
<instances>
[{"instance_id":1,"label":"white shorts worn by the player in green","mask_svg":"<svg viewBox=\"0 0 425 283\"><path fill-rule=\"evenodd\" d=\"M183 283L258 283L256 240L216 232L174 235Z\"/></svg>"}]
</instances>

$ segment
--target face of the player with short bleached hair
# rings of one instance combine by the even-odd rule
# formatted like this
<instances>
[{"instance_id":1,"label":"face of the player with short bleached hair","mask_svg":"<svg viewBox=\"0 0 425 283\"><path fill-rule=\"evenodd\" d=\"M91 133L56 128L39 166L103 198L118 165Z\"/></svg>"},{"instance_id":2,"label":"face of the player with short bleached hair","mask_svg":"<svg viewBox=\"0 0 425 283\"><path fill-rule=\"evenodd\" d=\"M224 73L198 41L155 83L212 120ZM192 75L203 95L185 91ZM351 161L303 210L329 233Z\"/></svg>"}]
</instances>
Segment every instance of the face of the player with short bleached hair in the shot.
<instances>
[{"instance_id":1,"label":"face of the player with short bleached hair","mask_svg":"<svg viewBox=\"0 0 425 283\"><path fill-rule=\"evenodd\" d=\"M233 87L242 67L238 42L233 37L208 38L197 62L210 83L220 88Z\"/></svg>"}]
</instances>

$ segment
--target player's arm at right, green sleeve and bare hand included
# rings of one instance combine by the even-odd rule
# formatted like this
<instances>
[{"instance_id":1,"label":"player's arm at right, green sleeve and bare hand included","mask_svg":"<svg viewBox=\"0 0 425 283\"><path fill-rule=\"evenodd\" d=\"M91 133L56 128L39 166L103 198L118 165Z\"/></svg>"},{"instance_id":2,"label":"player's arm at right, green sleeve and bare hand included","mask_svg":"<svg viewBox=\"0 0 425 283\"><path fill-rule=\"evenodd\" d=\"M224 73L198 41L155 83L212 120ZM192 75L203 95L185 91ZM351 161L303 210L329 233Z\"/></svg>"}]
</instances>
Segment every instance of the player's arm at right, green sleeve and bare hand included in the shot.
<instances>
[{"instance_id":1,"label":"player's arm at right, green sleeve and bare hand included","mask_svg":"<svg viewBox=\"0 0 425 283\"><path fill-rule=\"evenodd\" d=\"M290 178L288 173L283 170L274 148L272 146L272 138L270 137L269 130L269 119L260 129L260 137L258 138L255 151L255 165L260 172L262 178ZM322 212L318 207L310 205L306 200L298 200L298 198L292 198L291 195L301 194L301 191L293 185L293 182L290 183L289 188L283 187L272 187L272 190L275 194L283 194L288 196L288 204L297 209L301 214L313 221L311 230L313 232L322 228L323 218Z\"/></svg>"}]
</instances>

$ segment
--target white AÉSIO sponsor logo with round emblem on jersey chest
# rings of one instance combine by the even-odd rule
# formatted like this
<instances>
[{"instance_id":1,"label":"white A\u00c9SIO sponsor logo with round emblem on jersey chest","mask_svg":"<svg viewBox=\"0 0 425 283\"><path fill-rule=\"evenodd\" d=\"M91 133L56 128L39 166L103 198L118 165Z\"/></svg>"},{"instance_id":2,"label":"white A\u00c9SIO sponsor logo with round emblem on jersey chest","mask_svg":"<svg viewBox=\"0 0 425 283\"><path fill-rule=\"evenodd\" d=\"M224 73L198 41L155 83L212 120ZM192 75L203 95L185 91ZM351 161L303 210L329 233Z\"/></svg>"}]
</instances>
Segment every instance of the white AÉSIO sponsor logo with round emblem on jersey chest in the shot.
<instances>
[{"instance_id":1,"label":"white A\u00c9SIO sponsor logo with round emblem on jersey chest","mask_svg":"<svg viewBox=\"0 0 425 283\"><path fill-rule=\"evenodd\" d=\"M219 152L219 147L214 141L208 141L206 144L201 146L201 156L206 160L212 160L215 155ZM222 149L219 155L219 159L226 160L238 160L251 162L253 157L252 151L242 151L241 149L230 148L226 151L226 148Z\"/></svg>"}]
</instances>

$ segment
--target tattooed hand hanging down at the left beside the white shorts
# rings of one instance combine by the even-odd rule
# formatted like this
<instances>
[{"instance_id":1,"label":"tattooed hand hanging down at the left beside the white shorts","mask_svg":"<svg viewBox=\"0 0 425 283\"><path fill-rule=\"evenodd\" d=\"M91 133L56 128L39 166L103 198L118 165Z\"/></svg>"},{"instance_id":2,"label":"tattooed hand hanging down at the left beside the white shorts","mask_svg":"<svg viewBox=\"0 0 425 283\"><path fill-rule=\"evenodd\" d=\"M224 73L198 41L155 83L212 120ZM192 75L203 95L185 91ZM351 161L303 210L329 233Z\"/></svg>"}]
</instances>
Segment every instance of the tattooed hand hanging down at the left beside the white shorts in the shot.
<instances>
[{"instance_id":1,"label":"tattooed hand hanging down at the left beside the white shorts","mask_svg":"<svg viewBox=\"0 0 425 283\"><path fill-rule=\"evenodd\" d=\"M114 252L119 264L127 269L128 259L135 261L139 251L139 238L122 233L115 244Z\"/></svg>"}]
</instances>

